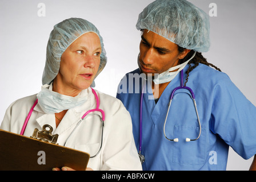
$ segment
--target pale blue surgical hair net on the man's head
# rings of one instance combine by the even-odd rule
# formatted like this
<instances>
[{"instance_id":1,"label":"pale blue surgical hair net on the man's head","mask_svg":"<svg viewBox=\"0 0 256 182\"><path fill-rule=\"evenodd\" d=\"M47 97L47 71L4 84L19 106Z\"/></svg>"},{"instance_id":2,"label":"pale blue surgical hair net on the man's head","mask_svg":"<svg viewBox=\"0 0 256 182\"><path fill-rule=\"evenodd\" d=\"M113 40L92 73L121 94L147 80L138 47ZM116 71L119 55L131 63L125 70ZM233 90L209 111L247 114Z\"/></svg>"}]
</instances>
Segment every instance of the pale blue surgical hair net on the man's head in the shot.
<instances>
[{"instance_id":1,"label":"pale blue surgical hair net on the man's head","mask_svg":"<svg viewBox=\"0 0 256 182\"><path fill-rule=\"evenodd\" d=\"M150 3L136 24L180 47L207 52L210 48L209 15L185 0L157 0Z\"/></svg>"}]
</instances>

